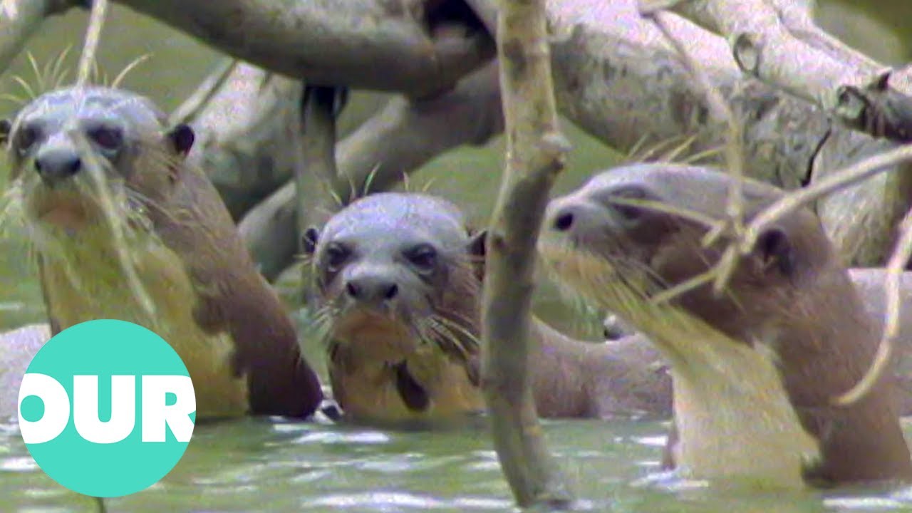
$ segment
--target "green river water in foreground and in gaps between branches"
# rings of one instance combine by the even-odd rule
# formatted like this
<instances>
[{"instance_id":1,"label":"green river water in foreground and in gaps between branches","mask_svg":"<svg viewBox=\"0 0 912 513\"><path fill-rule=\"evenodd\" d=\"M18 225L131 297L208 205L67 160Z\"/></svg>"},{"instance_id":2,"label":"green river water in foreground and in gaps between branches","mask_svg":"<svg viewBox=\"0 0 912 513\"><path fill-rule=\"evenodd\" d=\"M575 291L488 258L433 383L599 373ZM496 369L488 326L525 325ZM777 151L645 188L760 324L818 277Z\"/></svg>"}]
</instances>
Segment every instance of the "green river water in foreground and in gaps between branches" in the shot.
<instances>
[{"instance_id":1,"label":"green river water in foreground and in gaps between branches","mask_svg":"<svg viewBox=\"0 0 912 513\"><path fill-rule=\"evenodd\" d=\"M832 11L832 28L853 44L888 62L912 54L906 43L912 3L870 0L865 9L902 37L875 29L859 32L859 18ZM835 14L833 14L835 13ZM85 16L50 20L29 44L39 62L67 44L78 47ZM874 30L872 36L871 30ZM129 89L171 110L215 65L217 54L191 39L114 6L102 38L100 61L109 75L144 53L152 58L124 82ZM74 62L74 54L70 55ZM12 74L28 77L19 58L0 78L0 92L17 92ZM363 99L370 105L376 98ZM0 104L0 114L14 110ZM348 113L350 128L357 113ZM617 162L617 155L579 131L566 127L575 144L569 170L555 187L566 191L586 175ZM503 141L451 152L415 175L416 187L450 197L482 225L500 183ZM0 167L0 181L6 170ZM295 284L283 282L286 298ZM591 319L571 315L553 288L542 282L536 310L563 330L592 335ZM294 305L292 305L294 306ZM569 313L568 313L569 312ZM578 314L578 312L576 312ZM0 330L42 320L43 309L25 246L0 239ZM307 344L308 357L321 368L320 351ZM15 393L0 391L0 393ZM578 496L579 507L594 511L767 512L912 511L912 490L895 493L815 492L793 495L744 493L674 480L642 484L655 476L665 426L617 420L545 422L549 445ZM907 430L912 436L912 429ZM510 511L513 500L503 479L490 436L481 426L445 432L403 433L351 426L284 424L265 419L197 426L181 463L158 485L130 497L107 501L109 511ZM0 511L93 511L84 497L68 492L36 468L15 424L0 419Z\"/></svg>"}]
</instances>

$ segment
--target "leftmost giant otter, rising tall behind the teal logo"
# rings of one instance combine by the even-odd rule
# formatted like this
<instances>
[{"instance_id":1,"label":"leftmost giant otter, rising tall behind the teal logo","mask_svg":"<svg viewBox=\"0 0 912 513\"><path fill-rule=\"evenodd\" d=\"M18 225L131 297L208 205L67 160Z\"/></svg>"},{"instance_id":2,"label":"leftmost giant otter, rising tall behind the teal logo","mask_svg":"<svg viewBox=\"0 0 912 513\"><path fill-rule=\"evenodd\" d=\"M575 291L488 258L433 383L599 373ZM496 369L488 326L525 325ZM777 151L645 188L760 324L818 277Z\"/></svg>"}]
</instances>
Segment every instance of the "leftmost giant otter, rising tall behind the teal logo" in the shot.
<instances>
[{"instance_id":1,"label":"leftmost giant otter, rising tall behind the teal logo","mask_svg":"<svg viewBox=\"0 0 912 513\"><path fill-rule=\"evenodd\" d=\"M165 122L149 99L88 87L0 124L12 165L0 211L26 227L52 331L123 319L157 332L190 371L198 418L312 414L322 392L290 319L184 160L192 129Z\"/></svg>"}]
</instances>

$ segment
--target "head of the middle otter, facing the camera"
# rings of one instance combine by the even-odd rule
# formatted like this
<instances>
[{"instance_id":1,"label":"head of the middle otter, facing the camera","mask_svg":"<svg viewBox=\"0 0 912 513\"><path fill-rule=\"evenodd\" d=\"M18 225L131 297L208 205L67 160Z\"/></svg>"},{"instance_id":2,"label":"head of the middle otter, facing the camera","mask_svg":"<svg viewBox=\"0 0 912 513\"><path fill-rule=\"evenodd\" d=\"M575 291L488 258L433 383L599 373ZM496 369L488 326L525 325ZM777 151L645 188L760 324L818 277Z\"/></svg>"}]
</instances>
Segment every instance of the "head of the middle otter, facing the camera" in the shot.
<instances>
[{"instance_id":1,"label":"head of the middle otter, facing the camera","mask_svg":"<svg viewBox=\"0 0 912 513\"><path fill-rule=\"evenodd\" d=\"M455 205L424 194L372 194L308 229L328 337L389 364L427 342L472 356L482 241Z\"/></svg>"}]
</instances>

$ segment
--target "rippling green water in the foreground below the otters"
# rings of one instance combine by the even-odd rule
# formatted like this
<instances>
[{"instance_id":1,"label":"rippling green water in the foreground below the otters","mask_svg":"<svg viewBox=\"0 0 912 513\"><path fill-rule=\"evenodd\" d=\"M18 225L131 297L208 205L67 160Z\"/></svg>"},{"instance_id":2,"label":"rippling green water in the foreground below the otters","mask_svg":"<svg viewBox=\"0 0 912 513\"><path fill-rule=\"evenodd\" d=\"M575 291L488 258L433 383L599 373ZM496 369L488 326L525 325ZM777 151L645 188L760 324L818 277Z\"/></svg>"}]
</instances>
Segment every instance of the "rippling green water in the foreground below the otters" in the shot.
<instances>
[{"instance_id":1,"label":"rippling green water in the foreground below the otters","mask_svg":"<svg viewBox=\"0 0 912 513\"><path fill-rule=\"evenodd\" d=\"M665 426L546 422L578 508L620 512L912 510L912 490L745 493L655 477ZM652 478L650 478L652 477ZM0 424L0 509L92 511L45 476L15 424ZM181 463L109 511L512 511L486 427L395 432L248 419L199 425Z\"/></svg>"}]
</instances>

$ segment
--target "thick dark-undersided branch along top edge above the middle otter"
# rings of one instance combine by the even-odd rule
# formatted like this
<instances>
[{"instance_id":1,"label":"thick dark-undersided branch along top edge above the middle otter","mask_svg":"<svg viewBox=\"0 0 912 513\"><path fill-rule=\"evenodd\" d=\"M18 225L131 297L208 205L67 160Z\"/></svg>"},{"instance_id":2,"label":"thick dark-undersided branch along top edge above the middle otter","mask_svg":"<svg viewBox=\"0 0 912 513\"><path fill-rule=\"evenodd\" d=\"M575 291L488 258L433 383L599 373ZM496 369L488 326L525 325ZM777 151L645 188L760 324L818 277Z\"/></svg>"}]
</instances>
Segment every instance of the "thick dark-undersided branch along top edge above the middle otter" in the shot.
<instances>
[{"instance_id":1,"label":"thick dark-undersided branch along top edge above the middle otter","mask_svg":"<svg viewBox=\"0 0 912 513\"><path fill-rule=\"evenodd\" d=\"M315 85L428 96L493 55L474 20L424 0L118 0L256 66ZM469 30L453 30L466 26Z\"/></svg>"}]
</instances>

